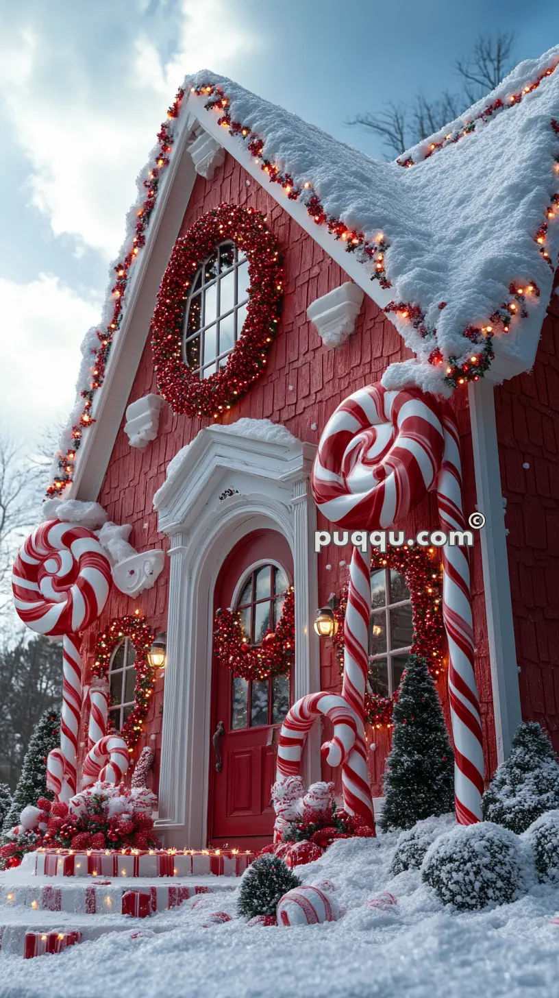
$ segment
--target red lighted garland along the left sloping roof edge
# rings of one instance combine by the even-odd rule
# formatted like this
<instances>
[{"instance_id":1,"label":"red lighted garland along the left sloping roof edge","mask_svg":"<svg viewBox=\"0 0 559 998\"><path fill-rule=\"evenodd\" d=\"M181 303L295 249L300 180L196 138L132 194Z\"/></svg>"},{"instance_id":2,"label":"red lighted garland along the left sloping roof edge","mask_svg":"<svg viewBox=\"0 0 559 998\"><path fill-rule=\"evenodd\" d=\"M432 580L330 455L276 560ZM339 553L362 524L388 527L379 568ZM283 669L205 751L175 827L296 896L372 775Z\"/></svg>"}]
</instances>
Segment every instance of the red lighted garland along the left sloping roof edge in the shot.
<instances>
[{"instance_id":1,"label":"red lighted garland along the left sloping roof edge","mask_svg":"<svg viewBox=\"0 0 559 998\"><path fill-rule=\"evenodd\" d=\"M113 339L118 332L124 311L126 290L129 283L130 269L138 258L138 254L146 243L146 231L150 224L150 218L156 207L158 190L162 174L170 163L170 155L175 141L175 122L181 113L185 91L180 88L175 101L167 111L168 121L164 122L157 136L157 151L149 164L148 176L143 185L146 195L143 202L136 209L138 221L135 226L135 235L132 237L129 250L124 257L114 267L116 280L109 293L109 303L111 307L111 317L107 325L97 332L100 345L92 351L91 381L88 388L81 392L84 399L82 413L78 422L72 427L73 445L61 454L58 459L59 472L55 476L46 492L48 496L56 495L67 485L70 485L74 478L74 462L76 454L82 442L83 430L90 426L95 420L91 415L93 400L96 392L103 384L105 371L111 353Z\"/></svg>"}]
</instances>

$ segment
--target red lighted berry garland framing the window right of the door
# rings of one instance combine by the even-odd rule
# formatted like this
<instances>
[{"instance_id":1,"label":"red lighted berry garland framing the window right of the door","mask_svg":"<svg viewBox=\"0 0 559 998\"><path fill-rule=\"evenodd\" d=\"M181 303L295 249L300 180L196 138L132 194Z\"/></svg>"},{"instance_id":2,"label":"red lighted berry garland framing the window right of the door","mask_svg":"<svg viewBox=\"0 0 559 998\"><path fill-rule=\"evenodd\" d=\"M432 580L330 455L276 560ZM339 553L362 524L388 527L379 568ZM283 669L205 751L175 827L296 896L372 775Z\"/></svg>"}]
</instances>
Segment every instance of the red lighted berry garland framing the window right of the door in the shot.
<instances>
[{"instance_id":1,"label":"red lighted berry garland framing the window right of the door","mask_svg":"<svg viewBox=\"0 0 559 998\"><path fill-rule=\"evenodd\" d=\"M413 642L410 654L420 655L429 666L433 678L440 675L444 666L446 637L442 619L442 565L433 560L435 548L402 547L384 553L373 551L371 569L394 569L403 575L411 594ZM343 672L343 621L347 606L347 586L341 590L339 606L334 611L337 632L333 641L339 669ZM392 709L398 699L365 692L365 719L375 728L391 728Z\"/></svg>"}]
</instances>

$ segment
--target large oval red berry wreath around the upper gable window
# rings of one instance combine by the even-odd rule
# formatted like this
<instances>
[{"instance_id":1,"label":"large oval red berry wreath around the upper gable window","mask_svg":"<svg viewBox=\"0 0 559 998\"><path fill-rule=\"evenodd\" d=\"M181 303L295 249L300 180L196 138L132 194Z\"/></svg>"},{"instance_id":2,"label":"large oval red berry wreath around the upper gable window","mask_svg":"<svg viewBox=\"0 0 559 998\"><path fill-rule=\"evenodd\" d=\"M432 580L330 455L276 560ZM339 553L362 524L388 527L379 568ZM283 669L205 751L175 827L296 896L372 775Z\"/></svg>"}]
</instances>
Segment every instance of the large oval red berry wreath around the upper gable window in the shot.
<instances>
[{"instance_id":1,"label":"large oval red berry wreath around the upper gable window","mask_svg":"<svg viewBox=\"0 0 559 998\"><path fill-rule=\"evenodd\" d=\"M249 260L249 306L243 331L227 363L201 378L182 354L185 311L197 270L225 241ZM266 366L279 323L283 274L275 237L260 212L220 205L177 240L165 271L152 319L152 348L160 394L174 412L214 416L230 409Z\"/></svg>"}]
</instances>

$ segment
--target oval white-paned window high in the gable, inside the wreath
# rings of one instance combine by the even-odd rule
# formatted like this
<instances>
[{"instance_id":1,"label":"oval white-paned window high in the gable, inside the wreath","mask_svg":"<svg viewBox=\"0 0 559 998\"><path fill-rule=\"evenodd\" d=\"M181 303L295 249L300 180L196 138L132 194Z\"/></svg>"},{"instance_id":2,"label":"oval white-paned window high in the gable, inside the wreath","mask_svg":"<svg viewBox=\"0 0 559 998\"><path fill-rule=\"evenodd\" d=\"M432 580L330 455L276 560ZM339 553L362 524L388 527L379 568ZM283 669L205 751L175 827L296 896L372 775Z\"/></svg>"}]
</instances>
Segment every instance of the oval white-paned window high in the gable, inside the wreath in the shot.
<instances>
[{"instance_id":1,"label":"oval white-paned window high in the gable, inside the wreath","mask_svg":"<svg viewBox=\"0 0 559 998\"><path fill-rule=\"evenodd\" d=\"M249 260L235 243L222 243L194 279L187 308L183 356L201 378L225 367L241 335L249 302Z\"/></svg>"}]
</instances>

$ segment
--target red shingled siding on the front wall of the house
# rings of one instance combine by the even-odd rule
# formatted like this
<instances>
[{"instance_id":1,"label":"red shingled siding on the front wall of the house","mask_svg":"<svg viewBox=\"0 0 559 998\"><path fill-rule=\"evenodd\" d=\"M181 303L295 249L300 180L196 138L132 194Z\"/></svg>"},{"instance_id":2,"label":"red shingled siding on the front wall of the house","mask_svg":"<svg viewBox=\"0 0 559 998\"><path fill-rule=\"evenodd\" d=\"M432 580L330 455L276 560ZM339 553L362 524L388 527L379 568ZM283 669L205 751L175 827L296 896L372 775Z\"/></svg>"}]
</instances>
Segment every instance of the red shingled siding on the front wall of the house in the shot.
<instances>
[{"instance_id":1,"label":"red shingled siding on the front wall of the house","mask_svg":"<svg viewBox=\"0 0 559 998\"><path fill-rule=\"evenodd\" d=\"M347 276L318 246L283 212L265 191L251 180L245 171L228 155L224 167L212 182L198 178L190 205L185 214L182 232L205 212L220 202L234 202L252 206L264 212L268 224L279 240L284 256L286 286L279 335L272 345L266 372L248 395L241 400L225 420L235 421L243 416L254 419L269 418L283 423L296 437L317 443L320 430L334 407L351 391L370 381L377 380L393 360L404 359L408 352L391 322L379 312L376 305L366 299L357 320L355 334L336 350L323 347L316 330L306 319L307 305L326 291L337 287ZM130 401L148 392L156 392L151 346L148 343L130 395ZM466 481L466 509L474 507L473 470L471 447L468 439L469 418L464 394L457 399L460 426L464 434L464 462ZM170 459L198 433L209 420L191 419L174 415L165 407L160 420L157 440L145 451L131 448L123 427L118 434L109 469L99 495L99 502L117 523L132 523L131 542L139 549L161 547L166 539L157 532L157 518L152 509L154 492L165 478ZM316 424L316 429L312 429ZM124 420L123 420L124 425ZM319 524L323 525L323 524ZM434 499L425 502L414 512L407 525L412 532L429 525L437 525ZM339 560L349 554L332 549L322 552L318 559L319 599L325 600L331 591L341 587L346 570L339 567ZM331 569L326 565L331 563ZM168 566L155 588L137 600L129 600L114 591L101 626L114 616L133 613L140 609L154 631L166 629ZM492 707L489 674L486 667L485 617L479 558L475 559L473 574L474 606L476 610L476 642L480 666L479 685L484 716L484 731L491 764L494 757ZM97 631L97 628L95 629ZM95 634L88 636L88 661L93 658ZM322 687L336 689L339 676L330 649L321 648ZM154 747L159 758L161 735L162 684L154 697L146 725L147 744ZM150 736L155 735L154 741ZM371 752L373 791L381 792L380 777L387 748L385 733L376 733L377 750ZM141 748L141 746L140 746ZM157 765L155 773L157 784Z\"/></svg>"}]
</instances>

